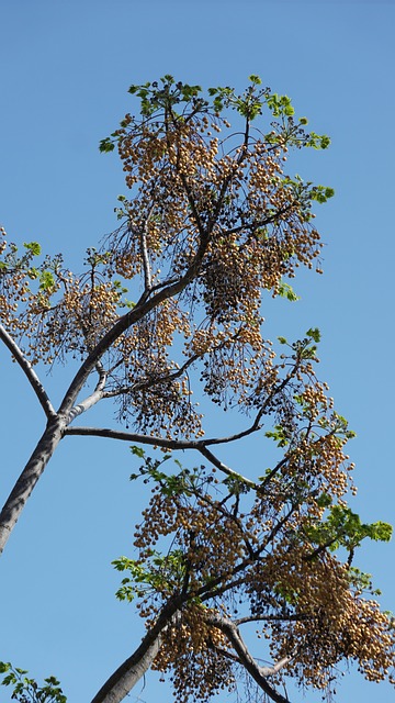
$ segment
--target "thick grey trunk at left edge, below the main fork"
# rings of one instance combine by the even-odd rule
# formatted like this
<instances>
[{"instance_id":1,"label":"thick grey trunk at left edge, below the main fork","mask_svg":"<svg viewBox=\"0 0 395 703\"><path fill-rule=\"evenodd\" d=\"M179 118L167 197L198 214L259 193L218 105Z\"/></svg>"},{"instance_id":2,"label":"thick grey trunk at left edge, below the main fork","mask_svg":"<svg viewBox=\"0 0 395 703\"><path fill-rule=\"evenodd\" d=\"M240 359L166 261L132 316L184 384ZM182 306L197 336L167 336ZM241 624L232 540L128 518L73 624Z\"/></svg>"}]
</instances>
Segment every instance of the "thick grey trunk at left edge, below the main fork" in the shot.
<instances>
[{"instance_id":1,"label":"thick grey trunk at left edge, below the main fork","mask_svg":"<svg viewBox=\"0 0 395 703\"><path fill-rule=\"evenodd\" d=\"M65 428L66 422L61 416L55 416L54 420L48 421L36 448L5 501L0 513L0 554L36 482L64 436Z\"/></svg>"}]
</instances>

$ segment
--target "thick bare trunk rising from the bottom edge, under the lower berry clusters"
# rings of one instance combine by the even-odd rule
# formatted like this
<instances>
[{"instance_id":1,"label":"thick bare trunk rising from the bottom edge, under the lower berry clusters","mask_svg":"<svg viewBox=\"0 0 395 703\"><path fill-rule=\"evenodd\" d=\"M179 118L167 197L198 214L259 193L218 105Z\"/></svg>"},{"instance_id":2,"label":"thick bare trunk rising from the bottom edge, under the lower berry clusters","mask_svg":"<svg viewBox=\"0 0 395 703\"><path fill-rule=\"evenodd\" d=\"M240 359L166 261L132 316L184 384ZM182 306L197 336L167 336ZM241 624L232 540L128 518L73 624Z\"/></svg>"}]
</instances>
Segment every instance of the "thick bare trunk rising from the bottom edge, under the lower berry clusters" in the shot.
<instances>
[{"instance_id":1,"label":"thick bare trunk rising from the bottom edge, under the lower berry clusters","mask_svg":"<svg viewBox=\"0 0 395 703\"><path fill-rule=\"evenodd\" d=\"M139 647L111 674L91 703L121 703L124 700L153 665L165 631L178 615L174 604L162 611L155 625L143 637Z\"/></svg>"}]
</instances>

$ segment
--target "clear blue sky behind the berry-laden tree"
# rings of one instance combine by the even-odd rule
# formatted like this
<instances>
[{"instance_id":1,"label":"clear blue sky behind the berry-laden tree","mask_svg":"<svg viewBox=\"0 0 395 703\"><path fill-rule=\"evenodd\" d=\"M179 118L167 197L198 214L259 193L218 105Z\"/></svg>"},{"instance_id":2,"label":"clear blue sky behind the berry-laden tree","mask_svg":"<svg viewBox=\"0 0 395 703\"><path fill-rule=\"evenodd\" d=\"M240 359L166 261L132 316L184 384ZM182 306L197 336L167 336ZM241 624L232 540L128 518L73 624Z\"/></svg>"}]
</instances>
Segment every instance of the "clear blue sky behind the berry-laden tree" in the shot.
<instances>
[{"instance_id":1,"label":"clear blue sky behind the berry-laden tree","mask_svg":"<svg viewBox=\"0 0 395 703\"><path fill-rule=\"evenodd\" d=\"M320 327L320 376L358 433L350 446L360 488L354 507L366 521L393 523L394 20L394 3L379 0L0 4L1 223L9 239L40 241L71 266L115 226L122 170L98 143L133 109L132 82L170 72L242 88L259 74L292 97L316 132L331 136L330 150L294 161L306 179L336 190L317 219L325 276L303 275L295 282L302 300L270 308L267 324L273 337ZM3 502L43 417L3 349L0 372ZM46 379L54 401L69 376L55 369ZM111 411L95 415L102 423L104 416ZM37 678L57 674L70 703L89 701L140 636L133 607L115 601L119 579L110 567L131 554L142 504L127 480L134 468L126 446L65 440L0 560L0 659ZM358 562L374 573L388 610L394 544L364 548ZM372 696L388 703L393 692L356 673L339 687L341 703ZM165 699L168 690L149 677L131 695ZM8 703L5 690L0 701Z\"/></svg>"}]
</instances>

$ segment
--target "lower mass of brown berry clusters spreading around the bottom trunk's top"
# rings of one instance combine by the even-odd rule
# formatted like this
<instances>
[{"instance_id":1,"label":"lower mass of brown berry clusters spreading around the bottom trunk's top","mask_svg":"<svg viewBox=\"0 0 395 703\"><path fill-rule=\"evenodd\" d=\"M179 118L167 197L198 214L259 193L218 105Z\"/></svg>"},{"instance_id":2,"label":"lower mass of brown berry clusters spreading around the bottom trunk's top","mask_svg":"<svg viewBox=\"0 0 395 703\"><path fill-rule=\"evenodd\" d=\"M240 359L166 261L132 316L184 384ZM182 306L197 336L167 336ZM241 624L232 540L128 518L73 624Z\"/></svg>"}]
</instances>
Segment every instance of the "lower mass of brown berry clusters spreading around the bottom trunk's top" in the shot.
<instances>
[{"instance_id":1,"label":"lower mass of brown berry clusters spreading around the bottom trunk's top","mask_svg":"<svg viewBox=\"0 0 395 703\"><path fill-rule=\"evenodd\" d=\"M311 537L308 527L319 525L324 509L308 489L306 466L292 480L285 473L263 482L252 503L237 483L227 492L229 483L202 470L183 472L172 493L166 481L154 487L135 533L137 562L147 565L157 546L163 554L169 549L169 562L160 562L139 613L150 623L163 604L181 598L181 614L155 661L156 669L171 672L180 703L192 694L206 701L236 679L237 658L224 633L207 622L210 612L257 621L259 637L269 643L266 658L291 658L276 681L291 676L327 689L347 660L369 680L391 673L391 620L354 588L348 566L327 547L317 550ZM177 576L170 566L176 554Z\"/></svg>"}]
</instances>

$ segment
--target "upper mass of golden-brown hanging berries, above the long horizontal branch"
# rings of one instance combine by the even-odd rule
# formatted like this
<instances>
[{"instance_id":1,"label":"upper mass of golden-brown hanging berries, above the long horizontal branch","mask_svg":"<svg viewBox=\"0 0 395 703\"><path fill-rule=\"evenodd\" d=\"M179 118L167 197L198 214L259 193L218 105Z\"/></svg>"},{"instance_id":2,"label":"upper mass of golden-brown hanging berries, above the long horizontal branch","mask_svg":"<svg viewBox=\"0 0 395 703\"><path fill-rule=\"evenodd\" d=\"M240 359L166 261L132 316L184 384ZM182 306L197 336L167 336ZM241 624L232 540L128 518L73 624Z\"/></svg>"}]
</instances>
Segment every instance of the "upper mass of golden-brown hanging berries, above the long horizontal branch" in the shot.
<instances>
[{"instance_id":1,"label":"upper mass of golden-brown hanging berries, above the long horizontal branch","mask_svg":"<svg viewBox=\"0 0 395 703\"><path fill-rule=\"evenodd\" d=\"M273 146L258 130L233 132L193 102L182 119L171 107L126 115L115 134L131 189L120 227L82 275L2 250L1 317L33 362L83 358L133 300L169 288L103 357L104 394L127 425L200 437L196 387L246 411L270 394L278 369L261 297L319 254L308 187L283 174L285 137Z\"/></svg>"}]
</instances>

